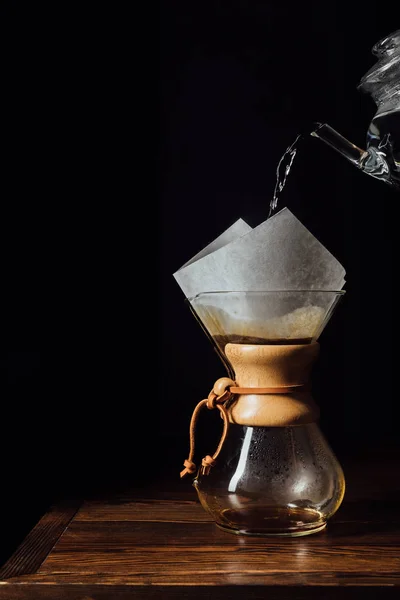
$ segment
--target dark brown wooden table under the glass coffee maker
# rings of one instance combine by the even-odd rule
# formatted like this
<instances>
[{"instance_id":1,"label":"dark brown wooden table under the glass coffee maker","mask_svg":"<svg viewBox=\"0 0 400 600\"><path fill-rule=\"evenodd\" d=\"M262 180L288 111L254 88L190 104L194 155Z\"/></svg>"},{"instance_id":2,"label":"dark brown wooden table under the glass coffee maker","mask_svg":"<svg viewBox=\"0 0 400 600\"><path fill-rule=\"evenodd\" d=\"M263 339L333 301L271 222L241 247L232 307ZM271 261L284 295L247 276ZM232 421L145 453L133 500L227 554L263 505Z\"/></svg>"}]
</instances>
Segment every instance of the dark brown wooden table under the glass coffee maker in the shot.
<instances>
[{"instance_id":1,"label":"dark brown wooden table under the glass coffee maker","mask_svg":"<svg viewBox=\"0 0 400 600\"><path fill-rule=\"evenodd\" d=\"M55 506L3 566L0 600L398 598L398 466L347 465L328 528L296 539L220 531L189 481Z\"/></svg>"}]
</instances>

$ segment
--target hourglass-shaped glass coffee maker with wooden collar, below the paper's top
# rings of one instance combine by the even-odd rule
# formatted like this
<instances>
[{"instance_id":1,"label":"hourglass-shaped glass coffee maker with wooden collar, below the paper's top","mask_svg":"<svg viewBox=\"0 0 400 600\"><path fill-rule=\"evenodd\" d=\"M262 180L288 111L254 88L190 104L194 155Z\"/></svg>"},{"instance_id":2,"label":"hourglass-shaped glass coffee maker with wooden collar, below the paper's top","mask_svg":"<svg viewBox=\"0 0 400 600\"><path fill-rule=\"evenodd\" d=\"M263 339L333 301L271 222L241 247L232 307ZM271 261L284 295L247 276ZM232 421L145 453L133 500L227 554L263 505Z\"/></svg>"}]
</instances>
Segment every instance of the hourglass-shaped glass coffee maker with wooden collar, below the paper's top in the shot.
<instances>
[{"instance_id":1,"label":"hourglass-shaped glass coffee maker with wooden collar, below the paper's top","mask_svg":"<svg viewBox=\"0 0 400 600\"><path fill-rule=\"evenodd\" d=\"M322 530L342 502L343 472L310 393L317 339L342 294L214 292L190 299L236 386L225 404L229 426L218 457L194 479L202 506L225 531L307 535Z\"/></svg>"}]
</instances>

